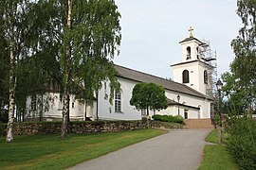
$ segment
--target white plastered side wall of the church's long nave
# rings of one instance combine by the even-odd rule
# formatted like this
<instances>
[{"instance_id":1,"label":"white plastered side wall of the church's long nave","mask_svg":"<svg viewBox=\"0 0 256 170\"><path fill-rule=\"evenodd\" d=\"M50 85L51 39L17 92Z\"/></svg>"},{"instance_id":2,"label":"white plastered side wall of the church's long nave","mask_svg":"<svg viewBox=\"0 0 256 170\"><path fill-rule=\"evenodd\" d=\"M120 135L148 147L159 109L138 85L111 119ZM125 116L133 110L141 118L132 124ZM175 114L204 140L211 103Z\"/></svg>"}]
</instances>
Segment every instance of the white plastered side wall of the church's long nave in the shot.
<instances>
[{"instance_id":1,"label":"white plastered side wall of the church's long nave","mask_svg":"<svg viewBox=\"0 0 256 170\"><path fill-rule=\"evenodd\" d=\"M136 81L119 78L121 84L121 96L122 96L122 112L115 112L114 104L111 105L108 100L104 99L105 93L109 95L109 89L101 89L99 93L99 118L100 119L109 119L109 120L138 120L141 119L141 111L136 110L134 106L130 105L130 99L132 97L132 91ZM180 115L184 117L184 110L188 110L189 119L197 119L198 113L200 113L200 118L210 118L210 101L204 98L192 96L186 93L176 93L173 91L166 90L165 95L177 101L176 96L180 95L180 103L198 108L200 106L201 110L196 110L188 107L179 107ZM115 103L115 101L113 101ZM155 111L156 114L168 114L168 115L177 115L178 107L169 106L166 110ZM150 111L150 115L153 115L154 111Z\"/></svg>"}]
</instances>

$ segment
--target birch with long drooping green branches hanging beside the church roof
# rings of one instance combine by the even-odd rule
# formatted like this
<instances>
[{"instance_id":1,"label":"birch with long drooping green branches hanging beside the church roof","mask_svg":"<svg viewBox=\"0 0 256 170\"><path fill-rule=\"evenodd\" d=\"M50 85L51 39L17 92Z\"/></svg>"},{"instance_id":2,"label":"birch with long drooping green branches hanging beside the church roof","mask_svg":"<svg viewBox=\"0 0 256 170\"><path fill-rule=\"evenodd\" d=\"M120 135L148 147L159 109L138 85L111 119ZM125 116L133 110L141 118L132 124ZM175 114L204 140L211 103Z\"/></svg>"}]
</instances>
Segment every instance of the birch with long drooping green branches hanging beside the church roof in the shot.
<instances>
[{"instance_id":1,"label":"birch with long drooping green branches hanging beside the church roof","mask_svg":"<svg viewBox=\"0 0 256 170\"><path fill-rule=\"evenodd\" d=\"M64 110L61 136L67 133L70 90L84 86L87 93L101 89L102 81L119 88L112 59L120 43L119 11L113 0L68 0L61 70L64 72ZM66 118L67 117L67 118Z\"/></svg>"}]
</instances>

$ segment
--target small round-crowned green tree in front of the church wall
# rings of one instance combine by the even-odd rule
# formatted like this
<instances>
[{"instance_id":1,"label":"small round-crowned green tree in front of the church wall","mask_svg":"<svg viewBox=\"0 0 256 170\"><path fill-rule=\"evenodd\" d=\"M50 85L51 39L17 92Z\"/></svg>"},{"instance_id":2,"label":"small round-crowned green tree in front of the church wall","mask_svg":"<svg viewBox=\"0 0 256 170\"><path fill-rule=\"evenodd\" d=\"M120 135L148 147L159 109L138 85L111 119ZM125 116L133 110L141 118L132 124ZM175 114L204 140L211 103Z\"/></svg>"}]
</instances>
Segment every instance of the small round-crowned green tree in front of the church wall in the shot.
<instances>
[{"instance_id":1,"label":"small round-crowned green tree in front of the church wall","mask_svg":"<svg viewBox=\"0 0 256 170\"><path fill-rule=\"evenodd\" d=\"M155 83L137 83L130 104L137 110L163 110L168 107L165 90Z\"/></svg>"}]
</instances>

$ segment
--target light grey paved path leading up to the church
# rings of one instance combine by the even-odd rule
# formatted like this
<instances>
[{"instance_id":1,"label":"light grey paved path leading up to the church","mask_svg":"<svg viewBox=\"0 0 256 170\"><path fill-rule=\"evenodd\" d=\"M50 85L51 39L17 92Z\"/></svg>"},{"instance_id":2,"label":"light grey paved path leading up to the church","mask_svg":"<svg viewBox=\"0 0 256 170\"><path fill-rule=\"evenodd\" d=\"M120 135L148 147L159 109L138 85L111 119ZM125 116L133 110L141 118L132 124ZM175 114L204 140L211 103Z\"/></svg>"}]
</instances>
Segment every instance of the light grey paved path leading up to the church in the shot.
<instances>
[{"instance_id":1,"label":"light grey paved path leading up to the church","mask_svg":"<svg viewBox=\"0 0 256 170\"><path fill-rule=\"evenodd\" d=\"M167 134L122 148L72 170L196 170L210 129L171 130Z\"/></svg>"}]
</instances>

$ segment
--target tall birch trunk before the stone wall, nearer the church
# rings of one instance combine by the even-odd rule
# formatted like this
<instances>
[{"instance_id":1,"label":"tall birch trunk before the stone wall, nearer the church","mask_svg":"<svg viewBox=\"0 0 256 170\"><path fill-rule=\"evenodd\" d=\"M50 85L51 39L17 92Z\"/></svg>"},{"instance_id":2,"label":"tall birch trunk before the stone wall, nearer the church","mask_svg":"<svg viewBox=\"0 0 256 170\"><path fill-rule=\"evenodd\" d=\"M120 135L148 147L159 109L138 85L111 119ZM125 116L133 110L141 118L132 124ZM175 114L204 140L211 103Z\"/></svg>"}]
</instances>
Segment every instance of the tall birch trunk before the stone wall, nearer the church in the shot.
<instances>
[{"instance_id":1,"label":"tall birch trunk before the stone wall, nearer the church","mask_svg":"<svg viewBox=\"0 0 256 170\"><path fill-rule=\"evenodd\" d=\"M71 7L72 0L68 0L68 12L67 12L67 22L66 26L68 30L71 28ZM62 131L61 137L64 138L68 132L68 121L69 121L69 100L70 100L70 68L69 59L70 59L70 38L68 33L68 42L67 42L67 50L64 58L64 107L63 107L63 123L62 123Z\"/></svg>"}]
</instances>

